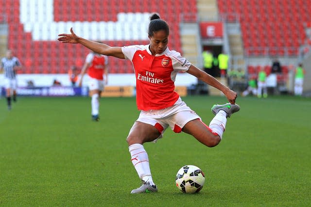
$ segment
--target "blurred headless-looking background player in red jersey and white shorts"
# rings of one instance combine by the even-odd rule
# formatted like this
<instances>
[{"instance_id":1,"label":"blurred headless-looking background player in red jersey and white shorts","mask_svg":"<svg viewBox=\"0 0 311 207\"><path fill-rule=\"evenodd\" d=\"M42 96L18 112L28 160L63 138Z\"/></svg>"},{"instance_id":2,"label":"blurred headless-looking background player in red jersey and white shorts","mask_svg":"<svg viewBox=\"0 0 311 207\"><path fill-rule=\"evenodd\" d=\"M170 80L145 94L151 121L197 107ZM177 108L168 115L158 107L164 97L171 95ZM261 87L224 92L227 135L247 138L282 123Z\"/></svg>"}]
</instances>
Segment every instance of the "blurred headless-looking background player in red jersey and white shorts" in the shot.
<instances>
[{"instance_id":1,"label":"blurred headless-looking background player in red jersey and white shorts","mask_svg":"<svg viewBox=\"0 0 311 207\"><path fill-rule=\"evenodd\" d=\"M88 82L89 95L91 96L92 120L99 121L99 99L108 82L108 57L96 52L91 52L86 56L86 62L81 70L79 86L82 86L83 76L86 73L90 78Z\"/></svg>"}]
</instances>

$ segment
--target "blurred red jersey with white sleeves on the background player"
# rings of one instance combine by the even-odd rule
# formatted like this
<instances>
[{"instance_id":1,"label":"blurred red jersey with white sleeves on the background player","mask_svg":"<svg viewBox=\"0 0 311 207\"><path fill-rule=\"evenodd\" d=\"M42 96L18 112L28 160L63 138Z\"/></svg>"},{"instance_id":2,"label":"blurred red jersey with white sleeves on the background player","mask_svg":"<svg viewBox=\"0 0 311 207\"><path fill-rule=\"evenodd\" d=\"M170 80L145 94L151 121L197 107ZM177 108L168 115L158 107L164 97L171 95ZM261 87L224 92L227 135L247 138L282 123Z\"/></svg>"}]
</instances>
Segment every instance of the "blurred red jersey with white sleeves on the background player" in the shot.
<instances>
[{"instance_id":1,"label":"blurred red jersey with white sleeves on the background player","mask_svg":"<svg viewBox=\"0 0 311 207\"><path fill-rule=\"evenodd\" d=\"M91 64L87 70L89 77L97 80L104 80L104 70L105 66L108 64L107 56L96 55L91 52L86 56L86 63Z\"/></svg>"}]
</instances>

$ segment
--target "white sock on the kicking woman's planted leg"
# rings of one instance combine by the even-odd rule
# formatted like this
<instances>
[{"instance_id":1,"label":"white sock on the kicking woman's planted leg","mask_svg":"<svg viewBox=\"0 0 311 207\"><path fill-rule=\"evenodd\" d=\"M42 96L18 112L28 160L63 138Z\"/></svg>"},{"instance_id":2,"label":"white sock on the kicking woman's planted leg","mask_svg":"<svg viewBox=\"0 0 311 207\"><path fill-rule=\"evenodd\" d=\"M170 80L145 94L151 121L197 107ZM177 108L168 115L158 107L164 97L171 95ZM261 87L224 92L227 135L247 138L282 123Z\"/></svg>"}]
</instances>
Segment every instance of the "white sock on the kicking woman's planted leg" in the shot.
<instances>
[{"instance_id":1,"label":"white sock on the kicking woman's planted leg","mask_svg":"<svg viewBox=\"0 0 311 207\"><path fill-rule=\"evenodd\" d=\"M152 180L148 154L142 144L132 144L128 147L131 153L131 160L141 180L155 185Z\"/></svg>"}]
</instances>

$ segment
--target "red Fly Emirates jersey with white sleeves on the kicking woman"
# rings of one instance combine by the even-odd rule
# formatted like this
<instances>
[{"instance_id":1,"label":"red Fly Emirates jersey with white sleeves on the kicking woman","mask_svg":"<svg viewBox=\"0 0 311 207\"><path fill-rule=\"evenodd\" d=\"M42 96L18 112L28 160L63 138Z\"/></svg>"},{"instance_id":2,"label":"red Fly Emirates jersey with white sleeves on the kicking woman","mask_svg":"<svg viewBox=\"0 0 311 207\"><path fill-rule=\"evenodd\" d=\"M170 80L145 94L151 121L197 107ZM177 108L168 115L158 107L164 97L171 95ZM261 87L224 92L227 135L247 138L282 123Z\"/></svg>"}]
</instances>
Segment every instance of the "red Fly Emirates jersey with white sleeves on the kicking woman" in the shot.
<instances>
[{"instance_id":1,"label":"red Fly Emirates jersey with white sleeves on the kicking woman","mask_svg":"<svg viewBox=\"0 0 311 207\"><path fill-rule=\"evenodd\" d=\"M149 45L122 47L122 52L134 66L138 110L158 110L173 106L179 98L174 91L176 75L178 71L186 72L190 62L179 52L169 48L153 56Z\"/></svg>"}]
</instances>

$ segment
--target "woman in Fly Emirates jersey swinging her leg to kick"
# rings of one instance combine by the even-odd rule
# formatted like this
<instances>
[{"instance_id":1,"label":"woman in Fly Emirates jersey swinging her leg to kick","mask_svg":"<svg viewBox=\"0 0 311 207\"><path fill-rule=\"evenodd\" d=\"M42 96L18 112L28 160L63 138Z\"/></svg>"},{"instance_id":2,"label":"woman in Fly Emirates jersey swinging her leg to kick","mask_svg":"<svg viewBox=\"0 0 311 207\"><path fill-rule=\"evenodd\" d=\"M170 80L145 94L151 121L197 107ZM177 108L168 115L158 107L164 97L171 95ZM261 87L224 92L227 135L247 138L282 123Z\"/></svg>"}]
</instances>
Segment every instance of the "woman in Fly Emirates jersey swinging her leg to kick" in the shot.
<instances>
[{"instance_id":1,"label":"woman in Fly Emirates jersey swinging her leg to kick","mask_svg":"<svg viewBox=\"0 0 311 207\"><path fill-rule=\"evenodd\" d=\"M142 180L142 185L131 193L156 192L151 176L149 159L143 143L161 138L165 129L192 135L208 147L216 146L222 139L227 117L239 111L235 104L237 93L196 66L190 64L180 53L169 50L169 26L156 14L151 16L148 29L149 45L110 47L71 34L59 34L63 43L80 43L97 53L121 59L129 59L135 70L137 106L140 115L126 139L132 163ZM174 80L178 71L187 72L199 80L221 90L230 103L214 105L215 117L207 127L174 91Z\"/></svg>"}]
</instances>

